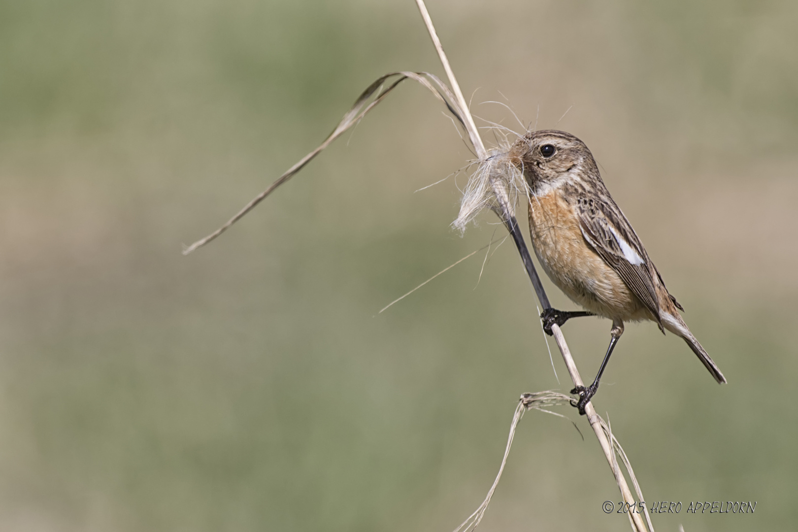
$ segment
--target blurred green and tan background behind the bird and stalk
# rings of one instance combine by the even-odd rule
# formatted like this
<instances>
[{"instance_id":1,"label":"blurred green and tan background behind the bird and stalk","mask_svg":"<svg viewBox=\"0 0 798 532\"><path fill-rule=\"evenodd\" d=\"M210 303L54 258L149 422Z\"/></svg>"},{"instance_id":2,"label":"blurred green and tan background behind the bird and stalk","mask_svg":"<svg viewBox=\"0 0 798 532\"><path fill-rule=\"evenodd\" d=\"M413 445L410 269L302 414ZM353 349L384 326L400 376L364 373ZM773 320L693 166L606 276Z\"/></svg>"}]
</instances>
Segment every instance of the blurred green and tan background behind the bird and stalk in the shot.
<instances>
[{"instance_id":1,"label":"blurred green and tan background behind the bird and stalk","mask_svg":"<svg viewBox=\"0 0 798 532\"><path fill-rule=\"evenodd\" d=\"M477 115L587 143L729 380L627 327L595 406L646 499L757 501L654 526L790 528L798 4L429 9ZM509 242L375 317L504 231L449 228L465 175L413 193L471 158L425 89L180 254L397 69L441 73L411 0L0 2L0 530L446 532L476 508L519 395L571 385ZM609 328L565 326L584 376ZM527 414L480 530L628 530L560 411L585 440Z\"/></svg>"}]
</instances>

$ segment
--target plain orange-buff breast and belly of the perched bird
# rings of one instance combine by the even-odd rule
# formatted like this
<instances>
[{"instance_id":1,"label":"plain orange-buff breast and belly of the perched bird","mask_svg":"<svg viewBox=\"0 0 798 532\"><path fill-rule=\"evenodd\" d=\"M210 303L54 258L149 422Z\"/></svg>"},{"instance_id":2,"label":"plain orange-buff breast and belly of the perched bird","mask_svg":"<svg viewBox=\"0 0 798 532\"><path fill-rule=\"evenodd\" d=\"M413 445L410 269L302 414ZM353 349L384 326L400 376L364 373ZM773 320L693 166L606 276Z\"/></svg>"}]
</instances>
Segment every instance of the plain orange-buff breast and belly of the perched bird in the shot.
<instances>
[{"instance_id":1,"label":"plain orange-buff breast and belly of the perched bird","mask_svg":"<svg viewBox=\"0 0 798 532\"><path fill-rule=\"evenodd\" d=\"M572 301L610 319L646 317L615 270L587 246L574 207L559 191L531 198L529 227L540 265Z\"/></svg>"}]
</instances>

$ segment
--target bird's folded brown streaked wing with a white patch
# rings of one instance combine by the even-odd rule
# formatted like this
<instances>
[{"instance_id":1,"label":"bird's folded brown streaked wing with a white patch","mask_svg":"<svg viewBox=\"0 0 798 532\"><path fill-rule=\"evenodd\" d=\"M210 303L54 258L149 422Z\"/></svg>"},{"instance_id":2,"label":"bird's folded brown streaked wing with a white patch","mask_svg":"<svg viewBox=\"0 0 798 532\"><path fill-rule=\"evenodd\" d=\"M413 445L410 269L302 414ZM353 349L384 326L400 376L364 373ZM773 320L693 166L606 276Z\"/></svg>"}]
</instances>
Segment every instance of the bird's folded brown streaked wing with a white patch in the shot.
<instances>
[{"instance_id":1,"label":"bird's folded brown streaked wing with a white patch","mask_svg":"<svg viewBox=\"0 0 798 532\"><path fill-rule=\"evenodd\" d=\"M576 211L587 243L646 305L662 329L654 279L646 264L648 254L626 217L618 207L596 199L583 199Z\"/></svg>"}]
</instances>

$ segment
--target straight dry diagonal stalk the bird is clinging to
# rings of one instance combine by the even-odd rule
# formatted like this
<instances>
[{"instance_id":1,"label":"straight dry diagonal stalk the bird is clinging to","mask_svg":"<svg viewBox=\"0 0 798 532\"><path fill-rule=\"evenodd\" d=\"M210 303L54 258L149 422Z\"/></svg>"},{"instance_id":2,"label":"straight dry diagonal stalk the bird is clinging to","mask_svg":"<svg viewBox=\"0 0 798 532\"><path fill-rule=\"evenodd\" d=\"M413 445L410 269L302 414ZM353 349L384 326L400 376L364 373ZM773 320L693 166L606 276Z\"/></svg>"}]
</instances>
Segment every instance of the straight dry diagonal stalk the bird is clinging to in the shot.
<instances>
[{"instance_id":1,"label":"straight dry diagonal stalk the bird is clinging to","mask_svg":"<svg viewBox=\"0 0 798 532\"><path fill-rule=\"evenodd\" d=\"M429 31L429 36L433 39L433 44L435 45L435 49L437 50L438 57L440 57L440 62L443 63L444 70L446 71L446 75L448 77L449 84L452 85L452 91L454 92L457 100L457 104L460 107L460 116L462 117L464 124L468 130L468 136L472 140L472 144L476 149L476 155L480 158L480 160L484 160L488 156L488 152L484 148L484 144L482 139L480 138L480 133L476 129L476 125L474 124L474 120L471 116L471 112L468 110L468 105L465 103L465 99L463 97L463 93L460 91L460 85L457 84L456 78L454 73L452 72L452 67L449 65L448 59L446 58L446 53L444 53L443 45L440 44L440 39L438 38L437 32L435 31L435 26L433 26L432 18L429 16L429 12L427 11L427 7L425 6L424 0L416 0L418 5L419 11L421 11L421 18L424 18L424 22L427 26L427 30ZM520 237L517 231L517 223L515 216L512 215L512 207L507 198L507 192L504 190L503 187L500 187L500 184L496 181L491 183L493 192L496 195L496 199L500 205L501 214L500 217L503 217L502 220L505 224L508 225L508 230L513 234L513 237L516 238L516 244L519 246L519 251L522 254L523 262L527 266L527 272L530 274L532 278L532 283L535 285L535 291L538 294L538 298L540 300L541 305L544 308L550 307L548 305L548 298L546 297L545 291L543 290L543 286L539 284L539 280L537 279L537 274L535 273L535 266L531 265L531 258L528 259L528 251L524 256L523 251L526 250L526 245L523 244L523 238ZM531 267L530 267L531 266ZM537 282L535 282L537 281ZM545 301L545 302L544 302ZM563 336L563 331L559 329L559 325L552 325L551 330L554 333L555 341L557 341L557 347L559 348L559 352L563 355L563 361L565 361L565 365L568 368L568 373L571 375L571 380L574 381L575 386L583 386L582 377L579 376L579 370L576 368L576 364L574 363L573 357L571 357L571 350L568 349L567 342L565 341L565 337ZM587 420L591 424L591 428L593 428L593 432L595 432L596 438L599 439L599 444L602 447L602 451L604 451L604 456L606 457L607 463L610 464L610 470L613 473L616 483L618 483L618 489L621 491L621 495L623 500L629 502L630 504L634 504L634 496L629 489L629 486L626 484L626 479L619 471L618 467L616 467L617 463L614 459L614 451L612 448L612 443L607 438L606 434L604 433L604 429L602 428L601 418L596 415L595 408L593 408L593 404L588 403L585 407L585 413L587 415ZM633 529L636 532L647 532L646 524L643 522L640 514L630 514L630 518L632 521Z\"/></svg>"}]
</instances>

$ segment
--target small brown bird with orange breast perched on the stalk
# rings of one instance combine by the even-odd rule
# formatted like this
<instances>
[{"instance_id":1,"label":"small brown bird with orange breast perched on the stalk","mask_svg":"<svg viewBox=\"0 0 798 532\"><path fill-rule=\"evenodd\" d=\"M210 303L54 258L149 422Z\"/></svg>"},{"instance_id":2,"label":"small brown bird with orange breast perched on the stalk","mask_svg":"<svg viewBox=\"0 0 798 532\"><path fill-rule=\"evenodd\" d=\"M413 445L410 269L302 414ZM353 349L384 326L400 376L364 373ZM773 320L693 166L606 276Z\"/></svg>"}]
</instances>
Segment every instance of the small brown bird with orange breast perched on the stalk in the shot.
<instances>
[{"instance_id":1,"label":"small brown bird with orange breast perched on the stalk","mask_svg":"<svg viewBox=\"0 0 798 532\"><path fill-rule=\"evenodd\" d=\"M548 309L544 329L570 317L595 314L612 320L610 347L599 373L587 388L579 386L575 406L585 405L599 388L624 321L651 320L662 333L683 338L718 383L720 368L681 319L684 310L668 293L654 262L626 216L615 204L587 146L570 133L536 131L516 141L511 160L530 187L529 227L535 255L560 290L589 312Z\"/></svg>"}]
</instances>

